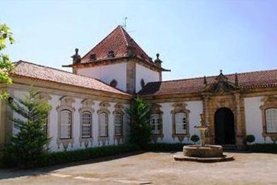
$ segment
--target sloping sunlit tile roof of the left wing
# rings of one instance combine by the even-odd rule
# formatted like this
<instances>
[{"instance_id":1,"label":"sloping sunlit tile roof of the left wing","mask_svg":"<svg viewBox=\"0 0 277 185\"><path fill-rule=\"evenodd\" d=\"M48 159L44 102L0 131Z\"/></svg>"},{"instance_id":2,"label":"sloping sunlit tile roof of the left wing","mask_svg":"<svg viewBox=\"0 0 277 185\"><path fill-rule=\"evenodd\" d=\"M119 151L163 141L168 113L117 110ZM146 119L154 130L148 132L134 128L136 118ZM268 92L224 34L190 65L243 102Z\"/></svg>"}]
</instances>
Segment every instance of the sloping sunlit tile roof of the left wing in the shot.
<instances>
[{"instance_id":1,"label":"sloping sunlit tile roof of the left wing","mask_svg":"<svg viewBox=\"0 0 277 185\"><path fill-rule=\"evenodd\" d=\"M27 78L34 78L37 80L45 80L49 82L57 82L64 85L73 85L77 87L84 87L87 89L94 89L98 91L107 91L115 94L124 94L125 92L110 87L99 80L89 78L86 76L75 75L67 71L53 69L51 67L44 67L30 62L19 61L15 63L15 70L12 71L11 76L24 76Z\"/></svg>"}]
</instances>

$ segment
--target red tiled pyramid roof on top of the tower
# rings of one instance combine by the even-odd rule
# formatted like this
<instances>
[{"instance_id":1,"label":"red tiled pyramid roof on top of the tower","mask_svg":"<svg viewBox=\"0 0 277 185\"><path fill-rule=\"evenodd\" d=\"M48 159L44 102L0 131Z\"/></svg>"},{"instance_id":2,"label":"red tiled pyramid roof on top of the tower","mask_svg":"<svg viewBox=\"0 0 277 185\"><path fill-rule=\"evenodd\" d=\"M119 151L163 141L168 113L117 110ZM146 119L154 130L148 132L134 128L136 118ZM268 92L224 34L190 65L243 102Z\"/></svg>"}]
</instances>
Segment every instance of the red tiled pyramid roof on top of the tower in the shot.
<instances>
[{"instance_id":1,"label":"red tiled pyramid roof on top of the tower","mask_svg":"<svg viewBox=\"0 0 277 185\"><path fill-rule=\"evenodd\" d=\"M122 26L117 26L105 39L102 39L99 44L97 44L89 53L82 57L82 63L91 62L89 61L89 56L91 54L96 54L96 60L109 59L107 53L109 51L114 51L115 58L126 57L127 56L127 46L133 46L136 51L136 56L141 58L144 55L146 62L151 62L150 57L141 49L139 44L136 44L134 39L124 30Z\"/></svg>"}]
</instances>

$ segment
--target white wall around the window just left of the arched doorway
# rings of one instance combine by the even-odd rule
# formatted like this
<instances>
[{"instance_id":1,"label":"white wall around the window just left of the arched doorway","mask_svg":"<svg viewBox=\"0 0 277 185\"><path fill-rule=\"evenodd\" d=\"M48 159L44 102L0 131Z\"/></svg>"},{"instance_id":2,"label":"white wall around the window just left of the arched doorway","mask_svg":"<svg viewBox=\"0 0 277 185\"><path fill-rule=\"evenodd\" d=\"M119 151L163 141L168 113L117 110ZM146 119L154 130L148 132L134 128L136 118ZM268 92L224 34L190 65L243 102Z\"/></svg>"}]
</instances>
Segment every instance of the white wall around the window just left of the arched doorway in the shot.
<instances>
[{"instance_id":1,"label":"white wall around the window just left of the arched doorway","mask_svg":"<svg viewBox=\"0 0 277 185\"><path fill-rule=\"evenodd\" d=\"M195 125L200 123L200 113L202 113L202 101L187 101L185 102L188 106L186 107L190 110L189 118L189 130L190 136L197 134L199 136L199 131L195 129ZM172 114L171 111L173 103L159 103L161 105L161 111L163 112L163 139L159 139L158 142L163 143L179 143L180 141L172 138ZM185 138L183 143L191 143L190 139Z\"/></svg>"}]
</instances>

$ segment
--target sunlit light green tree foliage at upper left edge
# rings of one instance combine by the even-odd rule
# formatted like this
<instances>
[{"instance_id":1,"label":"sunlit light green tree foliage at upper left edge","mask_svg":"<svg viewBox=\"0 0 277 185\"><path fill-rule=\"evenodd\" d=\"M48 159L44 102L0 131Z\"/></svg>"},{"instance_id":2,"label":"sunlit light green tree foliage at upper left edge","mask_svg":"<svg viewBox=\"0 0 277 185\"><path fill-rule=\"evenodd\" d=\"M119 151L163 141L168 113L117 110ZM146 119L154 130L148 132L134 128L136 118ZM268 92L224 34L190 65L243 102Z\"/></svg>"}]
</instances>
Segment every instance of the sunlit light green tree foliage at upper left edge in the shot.
<instances>
[{"instance_id":1,"label":"sunlit light green tree foliage at upper left edge","mask_svg":"<svg viewBox=\"0 0 277 185\"><path fill-rule=\"evenodd\" d=\"M12 44L15 42L15 39L12 38L10 28L8 28L6 24L0 24L0 83L10 85L12 80L9 77L9 73L14 69L14 65L12 64L10 57L2 53L2 51L6 49L7 42ZM8 94L6 92L0 94L0 99L5 99L7 97Z\"/></svg>"}]
</instances>

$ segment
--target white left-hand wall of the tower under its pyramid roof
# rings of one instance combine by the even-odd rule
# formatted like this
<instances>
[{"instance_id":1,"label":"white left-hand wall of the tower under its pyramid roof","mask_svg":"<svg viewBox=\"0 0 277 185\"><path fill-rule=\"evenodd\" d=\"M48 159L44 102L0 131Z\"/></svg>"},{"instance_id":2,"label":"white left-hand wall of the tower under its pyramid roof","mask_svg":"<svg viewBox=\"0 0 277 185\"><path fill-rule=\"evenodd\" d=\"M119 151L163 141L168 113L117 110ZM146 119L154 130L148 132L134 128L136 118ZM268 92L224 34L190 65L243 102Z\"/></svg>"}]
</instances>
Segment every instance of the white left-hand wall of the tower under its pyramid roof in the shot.
<instances>
[{"instance_id":1,"label":"white left-hand wall of the tower under its pyramid roof","mask_svg":"<svg viewBox=\"0 0 277 185\"><path fill-rule=\"evenodd\" d=\"M118 82L116 88L126 91L127 64L110 64L100 67L80 68L77 70L78 75L89 76L105 82L109 85L111 80L116 79Z\"/></svg>"}]
</instances>

